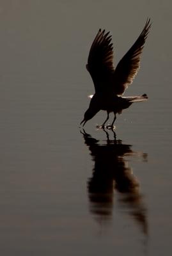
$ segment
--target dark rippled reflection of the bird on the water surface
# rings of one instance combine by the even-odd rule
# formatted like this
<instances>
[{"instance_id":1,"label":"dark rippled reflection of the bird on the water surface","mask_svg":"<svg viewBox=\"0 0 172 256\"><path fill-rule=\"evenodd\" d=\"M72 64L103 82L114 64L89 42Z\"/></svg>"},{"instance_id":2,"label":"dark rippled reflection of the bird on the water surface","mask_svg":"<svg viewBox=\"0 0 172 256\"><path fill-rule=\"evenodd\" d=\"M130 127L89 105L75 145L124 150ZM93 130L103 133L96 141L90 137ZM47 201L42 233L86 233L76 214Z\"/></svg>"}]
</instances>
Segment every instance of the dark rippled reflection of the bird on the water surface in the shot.
<instances>
[{"instance_id":1,"label":"dark rippled reflection of the bird on the water surface","mask_svg":"<svg viewBox=\"0 0 172 256\"><path fill-rule=\"evenodd\" d=\"M144 234L148 232L146 220L146 207L139 191L139 182L128 166L125 156L137 155L131 149L131 145L125 145L121 140L107 140L102 143L84 130L84 142L90 150L93 159L93 175L88 180L88 196L90 200L90 211L98 221L111 220L113 213L114 191L116 191L116 204L121 212L129 213L129 216L138 223ZM139 154L146 159L146 154Z\"/></svg>"}]
</instances>

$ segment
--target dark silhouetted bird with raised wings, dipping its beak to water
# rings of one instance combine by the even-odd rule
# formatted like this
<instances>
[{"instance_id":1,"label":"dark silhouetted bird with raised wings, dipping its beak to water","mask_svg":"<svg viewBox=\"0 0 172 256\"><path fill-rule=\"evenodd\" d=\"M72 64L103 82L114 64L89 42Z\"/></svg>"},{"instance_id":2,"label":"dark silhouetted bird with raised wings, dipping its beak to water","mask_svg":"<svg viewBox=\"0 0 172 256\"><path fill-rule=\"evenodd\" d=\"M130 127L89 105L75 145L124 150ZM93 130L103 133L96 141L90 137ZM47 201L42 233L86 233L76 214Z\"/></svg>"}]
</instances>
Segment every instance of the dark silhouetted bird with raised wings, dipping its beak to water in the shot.
<instances>
[{"instance_id":1,"label":"dark silhouetted bird with raised wings, dipping its beak to water","mask_svg":"<svg viewBox=\"0 0 172 256\"><path fill-rule=\"evenodd\" d=\"M151 28L150 18L146 20L145 27L138 36L136 42L129 51L121 58L116 68L113 65L113 43L110 31L99 29L95 40L90 48L86 69L91 75L95 86L95 94L90 95L90 106L84 113L82 127L95 116L100 110L107 111L107 118L104 123L97 127L104 128L109 113L114 113L114 119L110 126L114 128L116 114L121 114L123 109L129 108L133 102L141 102L148 99L146 94L139 96L124 97L125 89L132 84L134 77L140 67L141 53L146 38Z\"/></svg>"}]
</instances>

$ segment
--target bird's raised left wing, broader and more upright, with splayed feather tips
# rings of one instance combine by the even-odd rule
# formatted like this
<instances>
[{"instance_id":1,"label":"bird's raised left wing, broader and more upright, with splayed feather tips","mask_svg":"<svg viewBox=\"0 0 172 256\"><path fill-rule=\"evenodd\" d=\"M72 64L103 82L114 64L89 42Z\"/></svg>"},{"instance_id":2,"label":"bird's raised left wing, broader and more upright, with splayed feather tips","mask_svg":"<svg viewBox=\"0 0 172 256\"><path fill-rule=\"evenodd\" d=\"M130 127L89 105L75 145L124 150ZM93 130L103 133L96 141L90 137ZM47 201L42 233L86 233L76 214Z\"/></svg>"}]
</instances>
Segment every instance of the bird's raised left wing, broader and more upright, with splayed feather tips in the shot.
<instances>
[{"instance_id":1,"label":"bird's raised left wing, broader and more upright, with splayed feather tips","mask_svg":"<svg viewBox=\"0 0 172 256\"><path fill-rule=\"evenodd\" d=\"M104 89L105 85L110 86L111 77L114 73L113 67L113 44L109 32L99 29L95 40L91 45L86 68L93 79L95 92Z\"/></svg>"}]
</instances>

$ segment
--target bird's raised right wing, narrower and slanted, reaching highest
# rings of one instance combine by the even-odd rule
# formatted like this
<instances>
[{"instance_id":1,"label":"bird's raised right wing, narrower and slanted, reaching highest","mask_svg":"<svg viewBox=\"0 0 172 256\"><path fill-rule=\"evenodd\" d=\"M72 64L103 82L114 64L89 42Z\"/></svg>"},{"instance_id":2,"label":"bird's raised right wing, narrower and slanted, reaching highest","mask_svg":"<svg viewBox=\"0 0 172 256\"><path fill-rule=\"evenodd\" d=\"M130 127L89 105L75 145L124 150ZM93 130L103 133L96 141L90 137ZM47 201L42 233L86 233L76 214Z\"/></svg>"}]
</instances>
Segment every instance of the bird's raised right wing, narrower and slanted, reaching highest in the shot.
<instances>
[{"instance_id":1,"label":"bird's raised right wing, narrower and slanted, reaching highest","mask_svg":"<svg viewBox=\"0 0 172 256\"><path fill-rule=\"evenodd\" d=\"M150 30L150 19L146 20L145 28L137 38L136 42L129 51L120 60L113 74L114 92L116 95L122 95L132 81L140 67L141 52L145 45L145 40Z\"/></svg>"}]
</instances>

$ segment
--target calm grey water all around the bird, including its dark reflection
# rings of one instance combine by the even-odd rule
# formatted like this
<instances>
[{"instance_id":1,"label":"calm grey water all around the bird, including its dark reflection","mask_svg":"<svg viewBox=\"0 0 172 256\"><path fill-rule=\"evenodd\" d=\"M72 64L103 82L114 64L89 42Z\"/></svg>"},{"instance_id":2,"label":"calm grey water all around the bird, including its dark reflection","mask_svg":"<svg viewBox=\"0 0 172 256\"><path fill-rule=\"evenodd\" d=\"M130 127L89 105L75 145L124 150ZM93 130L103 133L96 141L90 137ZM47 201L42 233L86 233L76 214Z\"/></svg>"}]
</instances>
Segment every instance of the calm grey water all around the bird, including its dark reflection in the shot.
<instances>
[{"instance_id":1,"label":"calm grey water all around the bird, including its dark reflection","mask_svg":"<svg viewBox=\"0 0 172 256\"><path fill-rule=\"evenodd\" d=\"M128 3L130 2L130 3ZM0 3L1 255L170 255L171 1ZM98 28L116 62L153 21L115 133L79 128ZM113 116L111 116L113 118Z\"/></svg>"}]
</instances>

